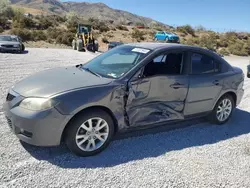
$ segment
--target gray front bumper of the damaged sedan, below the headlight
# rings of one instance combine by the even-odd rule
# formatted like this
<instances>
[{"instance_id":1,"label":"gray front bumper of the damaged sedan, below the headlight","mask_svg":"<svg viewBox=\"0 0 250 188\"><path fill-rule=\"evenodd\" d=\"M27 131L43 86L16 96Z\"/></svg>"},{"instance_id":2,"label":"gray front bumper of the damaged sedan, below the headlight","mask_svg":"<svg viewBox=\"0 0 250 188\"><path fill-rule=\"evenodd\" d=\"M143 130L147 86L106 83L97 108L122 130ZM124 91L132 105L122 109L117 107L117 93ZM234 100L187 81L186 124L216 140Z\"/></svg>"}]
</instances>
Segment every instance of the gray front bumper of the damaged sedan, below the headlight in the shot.
<instances>
[{"instance_id":1,"label":"gray front bumper of the damaged sedan, below the headlight","mask_svg":"<svg viewBox=\"0 0 250 188\"><path fill-rule=\"evenodd\" d=\"M7 101L4 104L4 114L12 132L20 140L35 146L57 146L61 143L69 116L60 114L55 108L35 112L12 107L12 103Z\"/></svg>"}]
</instances>

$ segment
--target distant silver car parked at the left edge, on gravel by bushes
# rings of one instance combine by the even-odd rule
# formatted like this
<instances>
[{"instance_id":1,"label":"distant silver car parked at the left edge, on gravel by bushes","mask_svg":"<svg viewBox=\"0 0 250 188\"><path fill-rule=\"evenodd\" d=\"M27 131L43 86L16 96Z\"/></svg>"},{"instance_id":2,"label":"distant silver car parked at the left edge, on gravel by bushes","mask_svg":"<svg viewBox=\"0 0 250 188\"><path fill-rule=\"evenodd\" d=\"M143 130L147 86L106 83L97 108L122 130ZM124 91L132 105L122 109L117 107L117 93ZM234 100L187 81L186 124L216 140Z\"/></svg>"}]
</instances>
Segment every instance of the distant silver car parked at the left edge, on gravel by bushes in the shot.
<instances>
[{"instance_id":1,"label":"distant silver car parked at the left edge, on gravel by bushes","mask_svg":"<svg viewBox=\"0 0 250 188\"><path fill-rule=\"evenodd\" d=\"M0 35L0 52L23 52L25 46L16 35Z\"/></svg>"}]
</instances>

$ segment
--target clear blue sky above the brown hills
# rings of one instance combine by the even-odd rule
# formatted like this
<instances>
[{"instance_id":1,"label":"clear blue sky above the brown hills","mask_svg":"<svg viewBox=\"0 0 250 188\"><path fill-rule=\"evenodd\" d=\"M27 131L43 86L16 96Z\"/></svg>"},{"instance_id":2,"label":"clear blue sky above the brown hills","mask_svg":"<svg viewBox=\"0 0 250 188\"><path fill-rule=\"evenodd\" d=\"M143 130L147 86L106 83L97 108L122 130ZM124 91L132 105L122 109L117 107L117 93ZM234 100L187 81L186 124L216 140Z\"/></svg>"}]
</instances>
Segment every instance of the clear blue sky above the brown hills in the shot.
<instances>
[{"instance_id":1,"label":"clear blue sky above the brown hills","mask_svg":"<svg viewBox=\"0 0 250 188\"><path fill-rule=\"evenodd\" d=\"M172 26L202 25L218 32L250 32L250 0L62 0L102 2Z\"/></svg>"}]
</instances>

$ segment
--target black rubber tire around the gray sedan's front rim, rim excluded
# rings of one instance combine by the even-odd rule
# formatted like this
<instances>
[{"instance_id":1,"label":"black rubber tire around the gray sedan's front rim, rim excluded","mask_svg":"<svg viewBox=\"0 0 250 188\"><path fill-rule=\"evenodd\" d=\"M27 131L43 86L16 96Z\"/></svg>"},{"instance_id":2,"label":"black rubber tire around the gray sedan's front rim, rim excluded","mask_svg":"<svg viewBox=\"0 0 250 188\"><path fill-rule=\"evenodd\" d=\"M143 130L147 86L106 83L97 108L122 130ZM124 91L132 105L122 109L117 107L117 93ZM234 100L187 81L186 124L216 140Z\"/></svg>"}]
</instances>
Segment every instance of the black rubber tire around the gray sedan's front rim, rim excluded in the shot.
<instances>
[{"instance_id":1,"label":"black rubber tire around the gray sedan's front rim, rim excluded","mask_svg":"<svg viewBox=\"0 0 250 188\"><path fill-rule=\"evenodd\" d=\"M108 137L106 141L100 148L94 151L84 151L78 147L76 143L76 135L77 135L79 127L84 122L86 122L87 120L91 118L102 118L103 120L105 120L109 127L109 131L108 131L109 133L108 133ZM87 156L96 155L102 152L104 149L106 149L111 139L113 138L113 135L114 135L114 122L112 118L110 117L110 115L103 110L95 109L95 110L90 110L90 111L84 112L83 114L78 115L75 119L73 119L73 121L70 122L70 124L67 126L67 129L66 129L65 142L72 153L74 153L77 156L87 157Z\"/></svg>"}]
</instances>

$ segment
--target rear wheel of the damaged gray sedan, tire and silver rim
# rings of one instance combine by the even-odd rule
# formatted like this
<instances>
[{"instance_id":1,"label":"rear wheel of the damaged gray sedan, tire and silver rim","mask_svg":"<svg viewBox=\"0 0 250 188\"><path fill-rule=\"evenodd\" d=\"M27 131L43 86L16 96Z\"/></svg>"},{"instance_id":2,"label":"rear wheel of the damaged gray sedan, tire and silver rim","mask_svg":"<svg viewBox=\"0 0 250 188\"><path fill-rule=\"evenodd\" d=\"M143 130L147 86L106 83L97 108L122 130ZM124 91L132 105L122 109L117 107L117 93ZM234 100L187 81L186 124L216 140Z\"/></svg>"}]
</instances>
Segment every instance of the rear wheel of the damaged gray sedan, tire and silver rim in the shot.
<instances>
[{"instance_id":1,"label":"rear wheel of the damaged gray sedan, tire and silver rim","mask_svg":"<svg viewBox=\"0 0 250 188\"><path fill-rule=\"evenodd\" d=\"M232 115L234 106L235 104L232 96L224 95L216 103L212 113L210 114L210 121L218 125L226 123Z\"/></svg>"}]
</instances>

